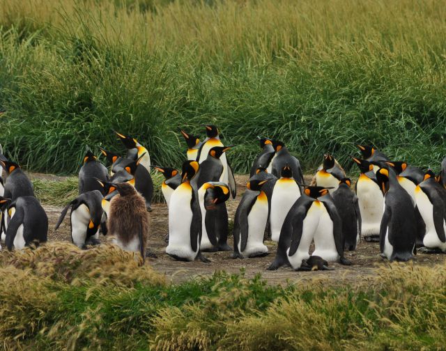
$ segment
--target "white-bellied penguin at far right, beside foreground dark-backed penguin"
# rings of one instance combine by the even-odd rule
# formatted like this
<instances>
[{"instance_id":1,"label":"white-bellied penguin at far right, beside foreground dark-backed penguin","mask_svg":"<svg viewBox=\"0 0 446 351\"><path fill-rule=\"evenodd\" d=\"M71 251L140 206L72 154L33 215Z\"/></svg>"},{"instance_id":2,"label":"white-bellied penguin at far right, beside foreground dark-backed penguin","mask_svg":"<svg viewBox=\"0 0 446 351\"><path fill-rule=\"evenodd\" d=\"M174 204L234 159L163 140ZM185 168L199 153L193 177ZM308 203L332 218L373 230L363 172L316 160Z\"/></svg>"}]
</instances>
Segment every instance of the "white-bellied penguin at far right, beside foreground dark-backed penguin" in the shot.
<instances>
[{"instance_id":1,"label":"white-bellied penguin at far right, beside foreground dark-backed penguin","mask_svg":"<svg viewBox=\"0 0 446 351\"><path fill-rule=\"evenodd\" d=\"M446 253L446 189L436 182L431 170L415 188L415 201L426 224L424 248L420 251Z\"/></svg>"}]
</instances>

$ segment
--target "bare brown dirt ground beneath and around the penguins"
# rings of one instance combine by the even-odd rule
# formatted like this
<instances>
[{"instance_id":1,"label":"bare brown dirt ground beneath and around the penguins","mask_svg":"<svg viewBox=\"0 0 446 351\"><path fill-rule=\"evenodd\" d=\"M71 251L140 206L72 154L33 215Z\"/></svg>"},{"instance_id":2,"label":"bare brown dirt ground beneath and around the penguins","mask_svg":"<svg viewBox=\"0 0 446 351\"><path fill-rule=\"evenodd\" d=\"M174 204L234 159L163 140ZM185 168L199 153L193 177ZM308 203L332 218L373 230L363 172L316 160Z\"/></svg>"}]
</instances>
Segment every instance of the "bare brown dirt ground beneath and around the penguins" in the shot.
<instances>
[{"instance_id":1,"label":"bare brown dirt ground beneath and around the penguins","mask_svg":"<svg viewBox=\"0 0 446 351\"><path fill-rule=\"evenodd\" d=\"M226 203L229 218L233 219L236 212L238 202L241 195L245 192L245 185L247 182L247 176L236 176L238 195L235 200L230 200ZM307 179L309 180L309 179ZM63 221L58 231L54 231L54 225L56 224L59 214L62 208L56 206L45 206L49 218L49 237L48 240L63 240L70 241L70 220L69 215ZM151 234L148 241L148 249L153 251L157 258L148 258L148 262L152 267L162 274L167 276L169 281L174 283L184 281L194 276L203 276L213 274L215 271L224 270L231 273L239 273L240 270L245 271L245 276L252 277L255 274L261 273L264 279L267 279L269 283L287 283L287 281L304 282L317 279L322 283L339 283L343 281L346 283L355 283L360 279L367 279L369 276L375 274L375 270L379 265L388 264L387 261L380 258L378 243L360 242L356 251L347 251L346 258L353 262L351 266L343 266L338 263L331 263L330 266L334 267L332 271L320 271L320 272L294 272L289 267L282 267L276 272L270 272L266 270L268 265L275 258L275 252L277 244L275 242L266 242L270 254L263 258L246 258L243 260L233 260L229 258L231 252L216 252L216 253L204 253L204 256L209 258L211 263L195 262L178 262L173 260L164 252L167 243L164 242L164 237L167 235L168 228L168 211L167 205L155 204L153 205L153 211L151 212ZM108 241L109 238L102 237L102 241ZM228 239L229 245L232 247L232 237ZM443 263L446 256L441 254L424 254L418 253L415 265L434 265L436 263ZM411 264L411 263L401 263Z\"/></svg>"}]
</instances>

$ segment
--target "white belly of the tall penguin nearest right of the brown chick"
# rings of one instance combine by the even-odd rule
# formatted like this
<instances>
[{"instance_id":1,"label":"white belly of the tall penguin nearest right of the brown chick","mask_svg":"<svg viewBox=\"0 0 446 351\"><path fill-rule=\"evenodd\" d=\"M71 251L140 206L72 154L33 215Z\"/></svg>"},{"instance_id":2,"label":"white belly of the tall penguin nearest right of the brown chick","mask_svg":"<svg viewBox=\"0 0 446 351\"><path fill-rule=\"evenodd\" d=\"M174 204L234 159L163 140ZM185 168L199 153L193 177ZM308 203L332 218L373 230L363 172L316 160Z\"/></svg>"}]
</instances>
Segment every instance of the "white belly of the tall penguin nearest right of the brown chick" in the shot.
<instances>
[{"instance_id":1,"label":"white belly of the tall penguin nearest right of the brown chick","mask_svg":"<svg viewBox=\"0 0 446 351\"><path fill-rule=\"evenodd\" d=\"M177 187L169 203L169 244L166 253L187 260L194 260L199 251L197 235L197 251L192 251L190 242L190 225L192 224L192 187L185 182Z\"/></svg>"}]
</instances>

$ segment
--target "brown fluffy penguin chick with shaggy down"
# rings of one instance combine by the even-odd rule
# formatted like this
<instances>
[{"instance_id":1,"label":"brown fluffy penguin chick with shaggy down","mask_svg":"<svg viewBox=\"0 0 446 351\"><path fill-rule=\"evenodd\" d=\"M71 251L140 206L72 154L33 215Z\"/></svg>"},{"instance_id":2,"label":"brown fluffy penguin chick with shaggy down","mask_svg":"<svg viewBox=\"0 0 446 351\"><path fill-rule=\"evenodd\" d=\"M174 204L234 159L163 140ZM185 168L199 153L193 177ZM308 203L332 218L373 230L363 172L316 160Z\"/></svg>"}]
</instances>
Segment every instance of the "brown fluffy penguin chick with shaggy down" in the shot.
<instances>
[{"instance_id":1,"label":"brown fluffy penguin chick with shaggy down","mask_svg":"<svg viewBox=\"0 0 446 351\"><path fill-rule=\"evenodd\" d=\"M144 263L149 231L146 201L128 183L115 186L119 194L110 201L108 233L116 237L116 244L121 249L139 251Z\"/></svg>"}]
</instances>

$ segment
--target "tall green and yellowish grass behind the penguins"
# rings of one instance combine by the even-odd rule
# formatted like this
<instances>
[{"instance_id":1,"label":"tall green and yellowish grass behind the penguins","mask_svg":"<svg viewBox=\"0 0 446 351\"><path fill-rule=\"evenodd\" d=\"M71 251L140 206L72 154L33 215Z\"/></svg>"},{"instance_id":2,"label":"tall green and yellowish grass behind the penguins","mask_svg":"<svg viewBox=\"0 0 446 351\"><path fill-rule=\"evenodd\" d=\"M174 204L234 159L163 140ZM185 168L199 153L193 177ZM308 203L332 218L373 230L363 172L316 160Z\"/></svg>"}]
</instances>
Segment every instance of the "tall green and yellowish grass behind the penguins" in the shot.
<instances>
[{"instance_id":1,"label":"tall green and yellowish grass behind the penguins","mask_svg":"<svg viewBox=\"0 0 446 351\"><path fill-rule=\"evenodd\" d=\"M0 141L33 171L137 137L178 166L183 127L220 126L238 172L257 135L305 169L356 142L438 169L444 1L0 0ZM243 155L243 157L237 157Z\"/></svg>"}]
</instances>

